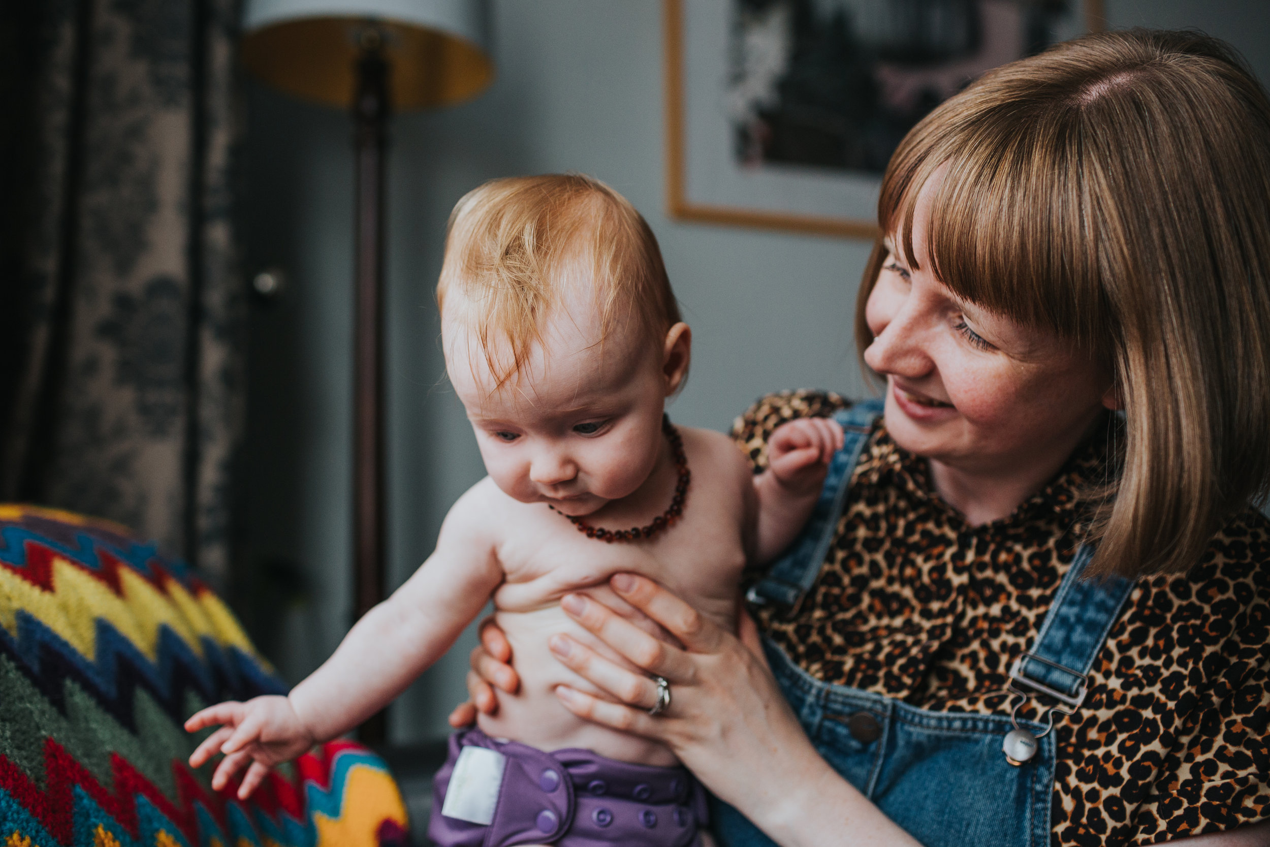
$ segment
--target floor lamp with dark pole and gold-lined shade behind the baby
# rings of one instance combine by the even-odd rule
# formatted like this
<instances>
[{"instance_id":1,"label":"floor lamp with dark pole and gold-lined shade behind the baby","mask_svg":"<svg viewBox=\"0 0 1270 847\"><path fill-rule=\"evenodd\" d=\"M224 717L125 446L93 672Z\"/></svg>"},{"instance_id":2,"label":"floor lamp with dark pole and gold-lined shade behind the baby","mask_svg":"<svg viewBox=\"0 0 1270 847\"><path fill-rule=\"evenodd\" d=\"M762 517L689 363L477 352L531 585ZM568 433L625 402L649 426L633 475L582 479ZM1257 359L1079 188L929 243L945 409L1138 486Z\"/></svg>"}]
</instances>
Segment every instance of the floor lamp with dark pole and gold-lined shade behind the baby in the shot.
<instances>
[{"instance_id":1,"label":"floor lamp with dark pole and gold-lined shade behind the baby","mask_svg":"<svg viewBox=\"0 0 1270 847\"><path fill-rule=\"evenodd\" d=\"M484 0L248 0L243 62L354 122L353 571L357 617L384 598L384 165L391 112L458 103L494 77ZM382 745L384 712L362 740Z\"/></svg>"}]
</instances>

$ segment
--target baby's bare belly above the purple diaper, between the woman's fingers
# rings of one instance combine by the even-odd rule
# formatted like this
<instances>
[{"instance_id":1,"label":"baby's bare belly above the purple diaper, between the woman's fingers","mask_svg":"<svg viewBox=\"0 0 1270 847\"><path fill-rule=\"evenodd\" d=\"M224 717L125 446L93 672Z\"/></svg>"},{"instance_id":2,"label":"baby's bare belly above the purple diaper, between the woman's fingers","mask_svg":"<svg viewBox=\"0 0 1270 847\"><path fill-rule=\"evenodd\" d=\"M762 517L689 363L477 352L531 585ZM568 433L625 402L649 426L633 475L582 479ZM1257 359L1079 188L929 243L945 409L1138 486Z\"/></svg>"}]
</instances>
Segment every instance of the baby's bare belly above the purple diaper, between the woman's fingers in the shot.
<instances>
[{"instance_id":1,"label":"baby's bare belly above the purple diaper, between the woman's fingers","mask_svg":"<svg viewBox=\"0 0 1270 847\"><path fill-rule=\"evenodd\" d=\"M568 684L613 700L560 664L547 648L547 639L556 632L568 632L603 655L617 659L612 650L569 620L559 606L532 612L500 611L495 613L495 620L512 644L513 665L521 677L521 690L516 695L499 692L498 714L480 716L479 724L486 735L511 738L544 750L580 747L624 762L660 766L676 763L674 756L663 744L577 717L556 697L556 686ZM632 667L625 660L617 660Z\"/></svg>"}]
</instances>

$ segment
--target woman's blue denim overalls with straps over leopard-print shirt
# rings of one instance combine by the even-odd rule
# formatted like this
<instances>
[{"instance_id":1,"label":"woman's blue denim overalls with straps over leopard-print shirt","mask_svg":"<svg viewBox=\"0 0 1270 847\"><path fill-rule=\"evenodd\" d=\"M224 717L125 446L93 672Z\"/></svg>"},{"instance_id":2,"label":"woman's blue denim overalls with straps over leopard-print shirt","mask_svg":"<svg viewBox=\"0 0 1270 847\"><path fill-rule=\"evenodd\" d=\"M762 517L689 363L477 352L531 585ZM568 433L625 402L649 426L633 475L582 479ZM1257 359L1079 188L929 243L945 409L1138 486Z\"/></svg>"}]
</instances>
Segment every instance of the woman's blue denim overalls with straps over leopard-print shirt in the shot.
<instances>
[{"instance_id":1,"label":"woman's blue denim overalls with straps over leopard-print shirt","mask_svg":"<svg viewBox=\"0 0 1270 847\"><path fill-rule=\"evenodd\" d=\"M752 602L798 612L826 560L852 471L881 410L881 401L872 400L836 415L846 443L829 465L806 528L751 589ZM1049 704L1058 704L1058 711L1071 714L1085 697L1085 674L1133 590L1133 583L1121 578L1080 580L1092 552L1091 547L1077 551L1035 643L1011 670L1012 691L1020 700L1045 695ZM815 749L922 844L1048 847L1054 733L1046 733L1045 725L1019 721L1039 738L1029 761L1011 764L1002 752L1006 734L1013 729L1007 715L925 711L881 695L827 684L798 668L771 641L765 646L776 679ZM1049 717L1053 720L1053 714ZM773 844L719 800L712 800L711 817L726 847Z\"/></svg>"}]
</instances>

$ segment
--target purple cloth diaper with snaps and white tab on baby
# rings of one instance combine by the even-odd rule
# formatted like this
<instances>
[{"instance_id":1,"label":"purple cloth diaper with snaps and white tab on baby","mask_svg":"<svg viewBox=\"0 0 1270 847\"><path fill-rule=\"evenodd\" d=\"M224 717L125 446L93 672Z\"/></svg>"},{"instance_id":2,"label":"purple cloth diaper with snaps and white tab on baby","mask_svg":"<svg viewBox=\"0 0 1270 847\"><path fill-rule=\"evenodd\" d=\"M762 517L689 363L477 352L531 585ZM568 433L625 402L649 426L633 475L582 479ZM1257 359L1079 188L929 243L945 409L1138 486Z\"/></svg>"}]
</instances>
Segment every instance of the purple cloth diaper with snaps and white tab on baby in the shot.
<instances>
[{"instance_id":1,"label":"purple cloth diaper with snaps and white tab on baby","mask_svg":"<svg viewBox=\"0 0 1270 847\"><path fill-rule=\"evenodd\" d=\"M462 789L486 791L490 800L497 791L489 824L442 814L465 747L504 757L500 782L497 775L483 776L484 785ZM583 749L547 753L479 729L450 737L432 796L428 838L437 847L691 847L707 822L705 791L685 767L631 764Z\"/></svg>"}]
</instances>

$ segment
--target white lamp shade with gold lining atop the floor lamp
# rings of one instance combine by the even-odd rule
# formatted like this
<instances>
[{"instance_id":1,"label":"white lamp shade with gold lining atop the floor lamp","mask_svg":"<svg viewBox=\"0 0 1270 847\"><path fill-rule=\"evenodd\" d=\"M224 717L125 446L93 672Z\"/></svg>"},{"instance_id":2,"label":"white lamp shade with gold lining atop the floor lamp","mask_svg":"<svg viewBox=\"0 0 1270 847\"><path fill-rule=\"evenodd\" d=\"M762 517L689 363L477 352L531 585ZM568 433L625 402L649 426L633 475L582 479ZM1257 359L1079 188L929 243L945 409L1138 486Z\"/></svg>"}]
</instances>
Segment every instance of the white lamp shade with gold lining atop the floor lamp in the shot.
<instances>
[{"instance_id":1,"label":"white lamp shade with gold lining atop the floor lamp","mask_svg":"<svg viewBox=\"0 0 1270 847\"><path fill-rule=\"evenodd\" d=\"M456 0L254 0L243 62L288 94L348 108L367 37L382 42L394 112L461 103L494 79L484 8Z\"/></svg>"}]
</instances>

